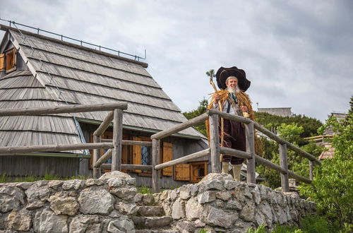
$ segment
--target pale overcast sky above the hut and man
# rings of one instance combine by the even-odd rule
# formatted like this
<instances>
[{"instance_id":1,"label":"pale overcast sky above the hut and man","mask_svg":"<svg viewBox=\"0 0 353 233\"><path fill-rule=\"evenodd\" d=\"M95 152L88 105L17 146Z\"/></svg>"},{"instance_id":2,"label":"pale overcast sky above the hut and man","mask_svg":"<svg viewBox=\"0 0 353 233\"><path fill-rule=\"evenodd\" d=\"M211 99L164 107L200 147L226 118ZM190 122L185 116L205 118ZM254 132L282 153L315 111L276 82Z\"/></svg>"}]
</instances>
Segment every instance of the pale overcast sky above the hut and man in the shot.
<instances>
[{"instance_id":1,"label":"pale overcast sky above the hut and man","mask_svg":"<svg viewBox=\"0 0 353 233\"><path fill-rule=\"evenodd\" d=\"M254 109L324 121L347 112L353 95L350 0L0 0L0 17L138 56L146 49L148 72L182 112L208 99L205 72L220 66L246 71Z\"/></svg>"}]
</instances>

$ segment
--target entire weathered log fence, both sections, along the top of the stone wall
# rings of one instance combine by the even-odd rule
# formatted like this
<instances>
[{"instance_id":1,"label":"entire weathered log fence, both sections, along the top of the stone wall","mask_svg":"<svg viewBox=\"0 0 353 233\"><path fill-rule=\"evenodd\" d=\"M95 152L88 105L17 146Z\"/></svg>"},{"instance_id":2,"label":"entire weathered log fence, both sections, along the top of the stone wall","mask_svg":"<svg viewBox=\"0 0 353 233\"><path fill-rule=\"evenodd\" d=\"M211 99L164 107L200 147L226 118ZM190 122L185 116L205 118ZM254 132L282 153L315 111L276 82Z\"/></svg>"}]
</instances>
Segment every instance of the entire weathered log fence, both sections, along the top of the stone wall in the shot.
<instances>
[{"instance_id":1,"label":"entire weathered log fence, both sections, along the top of the stone wall","mask_svg":"<svg viewBox=\"0 0 353 233\"><path fill-rule=\"evenodd\" d=\"M179 165L184 162L195 160L199 157L210 156L211 172L220 173L220 154L227 154L236 157L242 157L248 160L247 163L247 182L256 183L255 178L255 163L258 162L261 165L275 169L280 172L281 175L281 186L282 191L289 191L288 178L292 177L298 181L303 181L310 184L313 179L313 165L314 163L321 165L321 162L313 157L313 155L306 153L297 146L285 141L278 137L268 129L265 129L261 124L258 124L251 119L245 117L238 117L232 114L219 112L213 109L208 109L204 114L190 119L184 123L178 124L170 129L160 131L151 136L151 142L145 141L127 141L122 140L122 121L123 121L123 110L127 109L126 103L114 103L114 104L80 104L80 105L68 105L59 107L47 107L47 108L32 108L32 109L1 109L0 117L4 116L18 116L26 115L33 116L38 114L61 114L61 113L74 113L74 112L97 112L97 111L110 111L107 117L102 121L102 124L93 133L93 143L80 143L71 145L28 145L20 147L3 147L0 148L0 154L11 154L16 153L30 153L30 152L57 152L64 150L94 150L93 153L93 177L100 177L101 169L112 169L112 171L121 169L143 169L152 170L152 191L158 192L160 190L160 170L166 167ZM225 119L231 119L239 121L244 124L246 129L246 151L234 150L232 148L225 148L220 146L220 136L218 130L219 117ZM201 150L191 155L185 155L176 160L164 162L160 164L160 141L162 138L171 136L174 133L182 131L192 126L202 124L205 120L210 121L210 148ZM102 134L109 127L109 124L113 121L113 140L102 139ZM265 160L263 157L256 155L254 145L254 129L261 131L269 138L273 139L279 144L280 150L280 165L275 165L273 162ZM124 165L121 164L121 146L122 145L147 145L152 146L152 165ZM106 153L100 156L100 149L107 148ZM301 157L309 160L309 179L301 177L298 174L290 171L287 165L287 148L294 150ZM112 165L104 164L109 157L112 157Z\"/></svg>"}]
</instances>

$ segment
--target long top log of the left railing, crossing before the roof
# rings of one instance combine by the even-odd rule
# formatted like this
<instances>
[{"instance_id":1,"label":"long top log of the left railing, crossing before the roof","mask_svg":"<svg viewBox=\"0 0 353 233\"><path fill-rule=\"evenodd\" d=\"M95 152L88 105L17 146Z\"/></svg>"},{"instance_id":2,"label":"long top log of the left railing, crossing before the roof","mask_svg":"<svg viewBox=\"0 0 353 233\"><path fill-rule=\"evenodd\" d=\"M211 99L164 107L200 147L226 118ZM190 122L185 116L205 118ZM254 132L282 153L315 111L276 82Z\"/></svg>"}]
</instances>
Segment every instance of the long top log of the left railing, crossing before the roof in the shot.
<instances>
[{"instance_id":1,"label":"long top log of the left railing, crossing before the roof","mask_svg":"<svg viewBox=\"0 0 353 233\"><path fill-rule=\"evenodd\" d=\"M110 103L110 104L73 104L59 105L56 107L32 107L23 109L0 109L0 117L6 116L35 116L40 114L60 114L73 112L100 112L114 109L125 110L128 108L127 103Z\"/></svg>"}]
</instances>

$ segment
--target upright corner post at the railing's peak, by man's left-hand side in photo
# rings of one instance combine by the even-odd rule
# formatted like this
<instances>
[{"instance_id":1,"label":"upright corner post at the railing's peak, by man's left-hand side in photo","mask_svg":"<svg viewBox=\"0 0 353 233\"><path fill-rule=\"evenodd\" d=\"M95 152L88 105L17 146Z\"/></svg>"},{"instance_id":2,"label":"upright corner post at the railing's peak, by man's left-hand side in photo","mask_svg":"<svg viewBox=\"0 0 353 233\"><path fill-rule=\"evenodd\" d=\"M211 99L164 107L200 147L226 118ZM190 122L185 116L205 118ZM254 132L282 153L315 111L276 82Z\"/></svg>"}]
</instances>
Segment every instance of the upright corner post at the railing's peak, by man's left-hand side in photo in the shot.
<instances>
[{"instance_id":1,"label":"upright corner post at the railing's peak, by man's left-hand side in photo","mask_svg":"<svg viewBox=\"0 0 353 233\"><path fill-rule=\"evenodd\" d=\"M220 131L218 129L218 115L210 115L210 157L211 171L220 173Z\"/></svg>"}]
</instances>

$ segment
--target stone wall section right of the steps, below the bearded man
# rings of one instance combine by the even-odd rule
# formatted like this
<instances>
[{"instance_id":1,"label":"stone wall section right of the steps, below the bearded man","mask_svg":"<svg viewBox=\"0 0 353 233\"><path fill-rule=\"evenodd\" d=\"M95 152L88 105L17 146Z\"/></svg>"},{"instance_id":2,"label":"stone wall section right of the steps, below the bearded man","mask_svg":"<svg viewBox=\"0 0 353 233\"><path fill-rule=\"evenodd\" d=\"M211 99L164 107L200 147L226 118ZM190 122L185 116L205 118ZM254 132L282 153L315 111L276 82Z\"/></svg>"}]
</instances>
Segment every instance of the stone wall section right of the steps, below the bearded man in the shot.
<instances>
[{"instance_id":1,"label":"stone wall section right of the steps, below the bearded man","mask_svg":"<svg viewBox=\"0 0 353 233\"><path fill-rule=\"evenodd\" d=\"M294 193L234 181L228 174L208 174L198 184L158 193L156 201L185 232L246 232L262 223L268 228L298 225L301 217L316 211L315 203Z\"/></svg>"}]
</instances>

